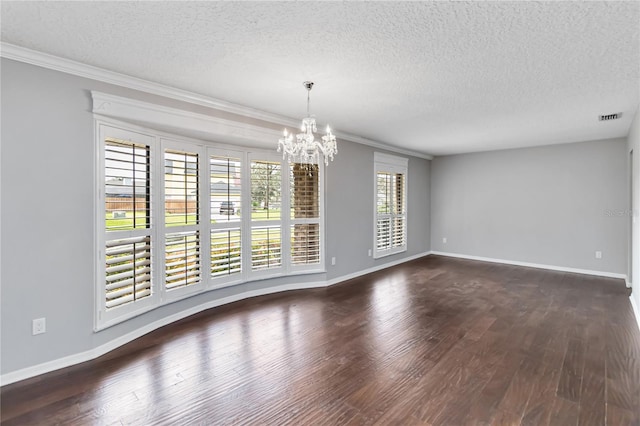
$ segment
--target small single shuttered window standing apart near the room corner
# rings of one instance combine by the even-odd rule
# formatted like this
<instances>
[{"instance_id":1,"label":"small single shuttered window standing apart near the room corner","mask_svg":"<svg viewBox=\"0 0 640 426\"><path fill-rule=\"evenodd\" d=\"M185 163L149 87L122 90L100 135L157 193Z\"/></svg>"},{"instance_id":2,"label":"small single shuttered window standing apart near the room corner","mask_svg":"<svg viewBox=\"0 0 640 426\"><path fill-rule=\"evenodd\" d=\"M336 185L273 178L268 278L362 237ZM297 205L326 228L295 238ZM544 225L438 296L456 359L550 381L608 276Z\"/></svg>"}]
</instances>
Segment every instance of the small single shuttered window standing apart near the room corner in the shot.
<instances>
[{"instance_id":1,"label":"small single shuttered window standing apart near the room corner","mask_svg":"<svg viewBox=\"0 0 640 426\"><path fill-rule=\"evenodd\" d=\"M374 257L407 250L407 159L376 152Z\"/></svg>"}]
</instances>

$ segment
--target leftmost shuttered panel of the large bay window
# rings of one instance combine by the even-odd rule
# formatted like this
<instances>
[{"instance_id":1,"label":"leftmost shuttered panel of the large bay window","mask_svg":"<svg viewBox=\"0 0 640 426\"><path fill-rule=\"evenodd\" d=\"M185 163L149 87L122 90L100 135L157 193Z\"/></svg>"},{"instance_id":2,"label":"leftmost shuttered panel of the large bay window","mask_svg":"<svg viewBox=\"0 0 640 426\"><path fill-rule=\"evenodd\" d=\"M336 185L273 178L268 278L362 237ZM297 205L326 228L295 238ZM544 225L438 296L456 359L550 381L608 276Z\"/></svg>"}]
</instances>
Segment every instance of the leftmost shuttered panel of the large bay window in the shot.
<instances>
[{"instance_id":1,"label":"leftmost shuttered panel of the large bay window","mask_svg":"<svg viewBox=\"0 0 640 426\"><path fill-rule=\"evenodd\" d=\"M148 308L156 298L151 271L156 240L152 232L153 138L117 128L99 128L97 236L101 277L99 321ZM117 311L117 312L116 312Z\"/></svg>"}]
</instances>

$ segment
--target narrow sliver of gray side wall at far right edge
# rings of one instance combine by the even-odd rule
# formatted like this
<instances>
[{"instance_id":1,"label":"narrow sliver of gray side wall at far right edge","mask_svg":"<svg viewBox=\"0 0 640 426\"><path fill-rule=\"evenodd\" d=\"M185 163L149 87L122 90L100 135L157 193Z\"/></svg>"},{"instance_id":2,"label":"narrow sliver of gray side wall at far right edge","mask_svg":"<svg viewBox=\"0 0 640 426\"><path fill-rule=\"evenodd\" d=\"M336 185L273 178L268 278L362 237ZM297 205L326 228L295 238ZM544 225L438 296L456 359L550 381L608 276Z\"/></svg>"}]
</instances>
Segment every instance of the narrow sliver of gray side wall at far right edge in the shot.
<instances>
[{"instance_id":1,"label":"narrow sliver of gray side wall at far right edge","mask_svg":"<svg viewBox=\"0 0 640 426\"><path fill-rule=\"evenodd\" d=\"M633 150L633 175L630 176L633 179L633 199L631 202L631 211L633 225L631 232L631 244L633 260L631 262L631 285L632 292L631 297L636 302L636 307L640 309L640 108L636 111L636 115L631 123L629 129L628 148L631 152ZM630 162L629 162L630 163ZM640 314L640 312L637 312ZM637 318L640 324L640 318Z\"/></svg>"}]
</instances>

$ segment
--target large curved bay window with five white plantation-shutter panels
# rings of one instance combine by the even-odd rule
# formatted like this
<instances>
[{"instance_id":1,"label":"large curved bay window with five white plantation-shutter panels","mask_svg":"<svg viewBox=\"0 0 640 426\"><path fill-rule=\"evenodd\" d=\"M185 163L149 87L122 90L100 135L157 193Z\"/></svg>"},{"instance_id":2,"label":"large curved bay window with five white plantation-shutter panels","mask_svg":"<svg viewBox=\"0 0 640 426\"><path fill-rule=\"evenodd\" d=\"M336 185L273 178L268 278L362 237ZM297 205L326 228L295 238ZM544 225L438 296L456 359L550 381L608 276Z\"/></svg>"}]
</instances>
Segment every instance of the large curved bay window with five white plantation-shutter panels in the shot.
<instances>
[{"instance_id":1,"label":"large curved bay window with five white plantation-shutter panels","mask_svg":"<svg viewBox=\"0 0 640 426\"><path fill-rule=\"evenodd\" d=\"M97 119L96 329L211 289L324 272L322 164L126 127Z\"/></svg>"}]
</instances>

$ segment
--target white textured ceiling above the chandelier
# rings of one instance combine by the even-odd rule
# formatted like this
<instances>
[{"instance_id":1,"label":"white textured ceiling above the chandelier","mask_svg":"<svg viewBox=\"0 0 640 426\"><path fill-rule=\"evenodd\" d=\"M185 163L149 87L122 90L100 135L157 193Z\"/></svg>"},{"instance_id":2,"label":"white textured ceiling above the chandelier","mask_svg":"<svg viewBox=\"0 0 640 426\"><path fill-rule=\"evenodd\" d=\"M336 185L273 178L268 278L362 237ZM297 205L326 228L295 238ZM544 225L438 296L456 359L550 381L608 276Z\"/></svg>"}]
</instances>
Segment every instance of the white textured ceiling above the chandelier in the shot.
<instances>
[{"instance_id":1,"label":"white textured ceiling above the chandelier","mask_svg":"<svg viewBox=\"0 0 640 426\"><path fill-rule=\"evenodd\" d=\"M10 2L2 41L443 155L627 135L640 3ZM599 114L622 112L599 122Z\"/></svg>"}]
</instances>

